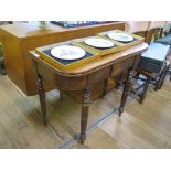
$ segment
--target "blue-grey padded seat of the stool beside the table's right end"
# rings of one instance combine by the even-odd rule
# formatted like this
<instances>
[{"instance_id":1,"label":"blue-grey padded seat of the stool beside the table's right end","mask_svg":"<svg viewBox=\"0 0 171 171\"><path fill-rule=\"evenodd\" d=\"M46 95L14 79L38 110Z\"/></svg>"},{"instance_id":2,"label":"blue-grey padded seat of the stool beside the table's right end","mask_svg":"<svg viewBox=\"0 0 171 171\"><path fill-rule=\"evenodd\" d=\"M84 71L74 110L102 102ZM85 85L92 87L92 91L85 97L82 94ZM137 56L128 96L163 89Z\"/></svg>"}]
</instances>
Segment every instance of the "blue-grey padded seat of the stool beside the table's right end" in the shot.
<instances>
[{"instance_id":1,"label":"blue-grey padded seat of the stool beside the table's right end","mask_svg":"<svg viewBox=\"0 0 171 171\"><path fill-rule=\"evenodd\" d=\"M148 72L160 73L169 52L170 45L151 43L148 50L141 54L139 67Z\"/></svg>"}]
</instances>

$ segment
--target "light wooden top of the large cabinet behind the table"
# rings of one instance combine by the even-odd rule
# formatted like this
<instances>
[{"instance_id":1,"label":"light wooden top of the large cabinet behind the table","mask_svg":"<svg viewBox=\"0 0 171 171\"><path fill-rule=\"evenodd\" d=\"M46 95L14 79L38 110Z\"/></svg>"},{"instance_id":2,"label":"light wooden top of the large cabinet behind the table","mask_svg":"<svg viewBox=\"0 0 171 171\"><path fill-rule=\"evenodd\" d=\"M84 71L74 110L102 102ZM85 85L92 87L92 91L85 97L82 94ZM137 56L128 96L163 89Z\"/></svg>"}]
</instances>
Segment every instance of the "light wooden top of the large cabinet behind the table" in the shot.
<instances>
[{"instance_id":1,"label":"light wooden top of the large cabinet behind the table","mask_svg":"<svg viewBox=\"0 0 171 171\"><path fill-rule=\"evenodd\" d=\"M40 22L30 22L30 23L20 23L20 24L8 24L8 25L1 25L0 30L6 31L17 38L20 39L29 39L33 36L42 36L47 35L56 32L70 32L70 31L78 31L78 30L85 30L87 28L104 28L104 26L113 26L116 24L124 24L124 22L110 22L110 23L101 23L101 24L95 24L95 25L87 25L87 26L78 26L78 28L63 28L50 22L46 22L46 29L40 28Z\"/></svg>"}]
</instances>

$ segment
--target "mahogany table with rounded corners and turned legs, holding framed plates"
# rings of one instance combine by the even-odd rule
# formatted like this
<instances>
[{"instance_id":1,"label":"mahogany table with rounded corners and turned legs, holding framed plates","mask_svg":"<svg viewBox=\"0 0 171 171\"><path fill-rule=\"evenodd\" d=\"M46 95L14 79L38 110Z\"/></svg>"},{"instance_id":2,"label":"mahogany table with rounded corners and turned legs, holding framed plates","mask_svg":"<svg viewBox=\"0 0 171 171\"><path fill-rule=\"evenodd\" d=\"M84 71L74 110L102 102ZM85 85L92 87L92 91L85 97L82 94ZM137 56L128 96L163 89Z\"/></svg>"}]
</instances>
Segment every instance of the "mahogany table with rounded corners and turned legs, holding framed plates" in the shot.
<instances>
[{"instance_id":1,"label":"mahogany table with rounded corners and turned legs, holding framed plates","mask_svg":"<svg viewBox=\"0 0 171 171\"><path fill-rule=\"evenodd\" d=\"M95 61L81 66L61 71L57 67L43 61L35 51L31 51L34 68L38 77L39 96L43 113L43 122L47 124L44 79L47 79L61 93L79 92L79 101L82 104L81 133L79 142L86 139L86 127L88 120L88 108L92 101L93 88L97 84L104 84L104 94L106 93L108 78L119 75L127 71L127 79L120 101L119 114L124 111L124 106L130 87L130 71L133 71L140 61L140 54L146 51L148 45L140 43L127 50L113 53L110 55L99 56ZM78 95L78 94L77 94ZM76 98L75 98L76 99Z\"/></svg>"}]
</instances>

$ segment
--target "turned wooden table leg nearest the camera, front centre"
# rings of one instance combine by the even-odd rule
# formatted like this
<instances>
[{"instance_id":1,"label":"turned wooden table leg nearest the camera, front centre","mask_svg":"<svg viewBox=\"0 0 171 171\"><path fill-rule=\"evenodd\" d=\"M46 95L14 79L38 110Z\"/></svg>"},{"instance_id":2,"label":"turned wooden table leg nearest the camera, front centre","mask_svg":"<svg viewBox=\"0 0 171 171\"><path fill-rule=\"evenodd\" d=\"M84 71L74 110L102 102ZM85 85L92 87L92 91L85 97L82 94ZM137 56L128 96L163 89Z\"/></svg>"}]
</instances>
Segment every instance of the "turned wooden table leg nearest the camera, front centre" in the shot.
<instances>
[{"instance_id":1,"label":"turned wooden table leg nearest the camera, front centre","mask_svg":"<svg viewBox=\"0 0 171 171\"><path fill-rule=\"evenodd\" d=\"M86 127L88 121L88 110L90 104L90 90L89 88L83 90L83 101L82 101L82 117L81 117L81 135L79 142L84 143L86 139Z\"/></svg>"}]
</instances>

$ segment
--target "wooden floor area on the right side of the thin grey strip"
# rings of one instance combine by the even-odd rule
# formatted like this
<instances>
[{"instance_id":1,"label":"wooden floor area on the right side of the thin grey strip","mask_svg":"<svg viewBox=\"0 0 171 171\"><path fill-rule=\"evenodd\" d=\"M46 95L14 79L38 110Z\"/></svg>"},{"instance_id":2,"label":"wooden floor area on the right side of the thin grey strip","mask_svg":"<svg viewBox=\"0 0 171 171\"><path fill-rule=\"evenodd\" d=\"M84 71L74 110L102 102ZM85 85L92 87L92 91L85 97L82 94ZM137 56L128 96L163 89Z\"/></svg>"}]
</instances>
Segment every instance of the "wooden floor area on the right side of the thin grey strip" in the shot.
<instances>
[{"instance_id":1,"label":"wooden floor area on the right side of the thin grey strip","mask_svg":"<svg viewBox=\"0 0 171 171\"><path fill-rule=\"evenodd\" d=\"M121 118L113 116L99 125L84 148L171 148L171 84L159 92L150 90L143 105L128 105Z\"/></svg>"}]
</instances>

